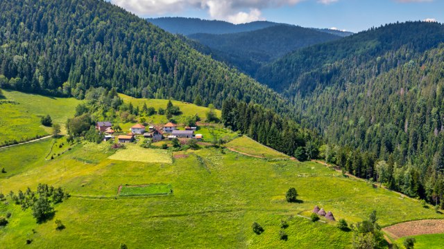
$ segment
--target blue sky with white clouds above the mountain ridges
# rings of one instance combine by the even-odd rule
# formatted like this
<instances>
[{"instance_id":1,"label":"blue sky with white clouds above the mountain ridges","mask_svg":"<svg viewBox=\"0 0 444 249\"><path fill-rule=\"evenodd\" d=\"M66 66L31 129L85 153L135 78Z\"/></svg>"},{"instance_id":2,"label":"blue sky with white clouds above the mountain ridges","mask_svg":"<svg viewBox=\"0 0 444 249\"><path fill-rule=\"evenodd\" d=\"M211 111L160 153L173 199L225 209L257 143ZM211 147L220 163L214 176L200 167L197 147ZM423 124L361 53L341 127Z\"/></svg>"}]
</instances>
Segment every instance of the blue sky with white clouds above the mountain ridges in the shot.
<instances>
[{"instance_id":1,"label":"blue sky with white clouds above the mountain ridges","mask_svg":"<svg viewBox=\"0 0 444 249\"><path fill-rule=\"evenodd\" d=\"M275 21L359 32L396 21L444 22L444 0L110 0L140 17Z\"/></svg>"}]
</instances>

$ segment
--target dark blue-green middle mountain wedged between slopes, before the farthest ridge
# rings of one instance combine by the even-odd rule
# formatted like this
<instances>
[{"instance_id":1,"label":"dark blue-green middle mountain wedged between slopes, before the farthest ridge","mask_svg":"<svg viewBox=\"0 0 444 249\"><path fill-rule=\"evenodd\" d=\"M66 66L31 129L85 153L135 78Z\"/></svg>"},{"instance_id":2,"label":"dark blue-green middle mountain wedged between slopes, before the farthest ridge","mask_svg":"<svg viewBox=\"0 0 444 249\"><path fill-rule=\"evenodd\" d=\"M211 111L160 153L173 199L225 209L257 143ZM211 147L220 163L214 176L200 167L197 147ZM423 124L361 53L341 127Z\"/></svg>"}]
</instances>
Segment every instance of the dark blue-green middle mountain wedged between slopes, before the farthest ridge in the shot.
<instances>
[{"instance_id":1,"label":"dark blue-green middle mountain wedged between slopes, before the farthest ridge","mask_svg":"<svg viewBox=\"0 0 444 249\"><path fill-rule=\"evenodd\" d=\"M311 28L289 25L224 35L198 33L188 37L210 47L214 58L249 75L255 75L262 64L293 50L341 38Z\"/></svg>"}]
</instances>

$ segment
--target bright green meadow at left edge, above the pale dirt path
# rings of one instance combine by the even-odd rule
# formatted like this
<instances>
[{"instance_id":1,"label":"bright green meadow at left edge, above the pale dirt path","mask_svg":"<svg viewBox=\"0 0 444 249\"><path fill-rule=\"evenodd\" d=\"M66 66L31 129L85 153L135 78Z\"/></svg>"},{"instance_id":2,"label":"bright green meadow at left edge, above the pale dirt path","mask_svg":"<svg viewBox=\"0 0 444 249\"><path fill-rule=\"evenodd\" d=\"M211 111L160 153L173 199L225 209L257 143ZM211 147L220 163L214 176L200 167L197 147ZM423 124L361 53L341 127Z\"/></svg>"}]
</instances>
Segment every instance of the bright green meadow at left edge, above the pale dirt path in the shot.
<instances>
[{"instance_id":1,"label":"bright green meadow at left edge, above the pale dirt path","mask_svg":"<svg viewBox=\"0 0 444 249\"><path fill-rule=\"evenodd\" d=\"M17 91L3 90L7 100L16 104L0 104L0 145L10 140L30 140L51 133L51 128L43 127L40 118L49 114L53 123L64 124L74 116L79 100L74 98L54 98Z\"/></svg>"}]
</instances>

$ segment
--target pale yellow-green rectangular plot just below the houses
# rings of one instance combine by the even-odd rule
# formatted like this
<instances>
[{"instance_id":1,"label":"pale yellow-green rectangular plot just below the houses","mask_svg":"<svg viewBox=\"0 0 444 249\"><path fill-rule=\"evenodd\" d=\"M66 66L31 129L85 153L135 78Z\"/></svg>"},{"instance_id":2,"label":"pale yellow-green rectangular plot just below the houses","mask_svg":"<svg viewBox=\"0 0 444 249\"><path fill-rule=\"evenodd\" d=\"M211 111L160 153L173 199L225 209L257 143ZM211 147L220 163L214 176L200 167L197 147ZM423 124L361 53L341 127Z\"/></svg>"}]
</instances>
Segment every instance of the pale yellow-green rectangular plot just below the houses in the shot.
<instances>
[{"instance_id":1,"label":"pale yellow-green rectangular plot just below the houses","mask_svg":"<svg viewBox=\"0 0 444 249\"><path fill-rule=\"evenodd\" d=\"M171 154L164 149L145 149L137 145L126 146L127 149L120 149L108 158L142 163L173 163Z\"/></svg>"}]
</instances>

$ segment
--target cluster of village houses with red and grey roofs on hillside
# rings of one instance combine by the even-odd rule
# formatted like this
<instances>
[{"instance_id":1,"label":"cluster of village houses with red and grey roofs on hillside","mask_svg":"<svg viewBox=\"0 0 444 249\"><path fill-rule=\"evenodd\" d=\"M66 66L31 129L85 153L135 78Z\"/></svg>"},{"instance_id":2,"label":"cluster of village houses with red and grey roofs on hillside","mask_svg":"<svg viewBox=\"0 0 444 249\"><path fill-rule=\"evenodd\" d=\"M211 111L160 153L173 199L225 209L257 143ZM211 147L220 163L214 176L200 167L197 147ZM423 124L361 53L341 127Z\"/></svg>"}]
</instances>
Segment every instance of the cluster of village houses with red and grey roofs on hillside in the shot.
<instances>
[{"instance_id":1,"label":"cluster of village houses with red and grey roofs on hillside","mask_svg":"<svg viewBox=\"0 0 444 249\"><path fill-rule=\"evenodd\" d=\"M105 141L114 138L112 135L115 131L112 130L111 122L97 122L96 129L105 134ZM194 134L196 129L197 127L185 127L185 130L179 130L178 125L172 122L164 124L161 129L154 126L148 127L147 129L147 127L142 124L135 124L130 128L130 133L120 135L117 139L120 143L126 143L134 142L135 136L144 136L145 138L153 139L154 142L158 142L162 140L165 135L169 140L174 138L195 138L196 140L201 140L203 138L202 134Z\"/></svg>"}]
</instances>

